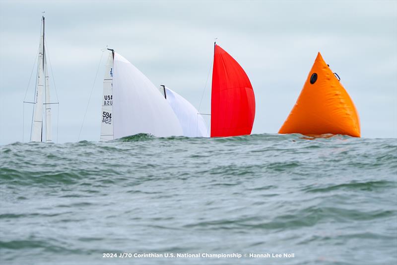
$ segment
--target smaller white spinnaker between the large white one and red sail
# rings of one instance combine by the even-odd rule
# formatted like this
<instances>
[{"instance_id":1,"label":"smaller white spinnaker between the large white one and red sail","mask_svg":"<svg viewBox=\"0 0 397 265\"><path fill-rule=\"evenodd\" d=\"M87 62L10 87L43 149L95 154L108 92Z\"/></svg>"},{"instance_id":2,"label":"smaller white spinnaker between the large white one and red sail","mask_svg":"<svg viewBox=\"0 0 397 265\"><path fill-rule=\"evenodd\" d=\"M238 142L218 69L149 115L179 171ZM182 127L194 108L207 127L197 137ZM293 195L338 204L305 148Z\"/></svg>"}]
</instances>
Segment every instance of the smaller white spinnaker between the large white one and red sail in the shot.
<instances>
[{"instance_id":1,"label":"smaller white spinnaker between the large white one and red sail","mask_svg":"<svg viewBox=\"0 0 397 265\"><path fill-rule=\"evenodd\" d=\"M181 123L186 137L209 137L207 126L199 111L177 92L165 87L168 103Z\"/></svg>"}]
</instances>

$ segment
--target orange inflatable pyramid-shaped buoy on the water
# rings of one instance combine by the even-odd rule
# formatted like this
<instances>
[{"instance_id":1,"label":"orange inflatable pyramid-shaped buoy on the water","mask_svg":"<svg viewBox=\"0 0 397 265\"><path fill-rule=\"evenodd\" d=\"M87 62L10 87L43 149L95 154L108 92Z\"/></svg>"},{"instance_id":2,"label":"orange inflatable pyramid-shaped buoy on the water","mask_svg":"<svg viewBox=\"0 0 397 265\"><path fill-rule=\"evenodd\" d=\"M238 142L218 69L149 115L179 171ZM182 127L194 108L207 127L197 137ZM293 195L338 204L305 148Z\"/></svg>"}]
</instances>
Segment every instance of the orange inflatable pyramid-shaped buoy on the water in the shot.
<instances>
[{"instance_id":1,"label":"orange inflatable pyramid-shaped buoy on the water","mask_svg":"<svg viewBox=\"0 0 397 265\"><path fill-rule=\"evenodd\" d=\"M278 133L361 136L356 107L320 53Z\"/></svg>"}]
</instances>

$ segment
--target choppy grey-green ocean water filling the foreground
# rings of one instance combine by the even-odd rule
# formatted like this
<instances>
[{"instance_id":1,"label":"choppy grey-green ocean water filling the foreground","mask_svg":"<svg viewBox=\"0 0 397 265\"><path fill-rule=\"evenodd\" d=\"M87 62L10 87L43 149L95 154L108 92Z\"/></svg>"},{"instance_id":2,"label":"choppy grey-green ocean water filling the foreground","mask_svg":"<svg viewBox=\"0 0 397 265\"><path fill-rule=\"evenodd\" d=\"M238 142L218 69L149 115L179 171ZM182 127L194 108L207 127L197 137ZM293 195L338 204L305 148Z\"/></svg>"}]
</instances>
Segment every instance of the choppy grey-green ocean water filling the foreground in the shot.
<instances>
[{"instance_id":1,"label":"choppy grey-green ocean water filling the foreground","mask_svg":"<svg viewBox=\"0 0 397 265\"><path fill-rule=\"evenodd\" d=\"M397 139L135 135L0 155L1 265L397 262Z\"/></svg>"}]
</instances>

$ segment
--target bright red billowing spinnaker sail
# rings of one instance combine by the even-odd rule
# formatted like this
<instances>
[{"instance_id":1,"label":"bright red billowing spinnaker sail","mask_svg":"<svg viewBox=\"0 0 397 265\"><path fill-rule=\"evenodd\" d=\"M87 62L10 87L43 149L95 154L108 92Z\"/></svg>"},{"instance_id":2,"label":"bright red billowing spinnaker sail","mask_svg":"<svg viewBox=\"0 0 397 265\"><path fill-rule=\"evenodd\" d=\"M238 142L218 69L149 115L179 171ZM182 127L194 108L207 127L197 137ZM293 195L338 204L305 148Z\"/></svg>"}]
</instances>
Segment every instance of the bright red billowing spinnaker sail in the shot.
<instances>
[{"instance_id":1,"label":"bright red billowing spinnaker sail","mask_svg":"<svg viewBox=\"0 0 397 265\"><path fill-rule=\"evenodd\" d=\"M251 134L255 95L243 68L215 45L211 92L211 137Z\"/></svg>"}]
</instances>

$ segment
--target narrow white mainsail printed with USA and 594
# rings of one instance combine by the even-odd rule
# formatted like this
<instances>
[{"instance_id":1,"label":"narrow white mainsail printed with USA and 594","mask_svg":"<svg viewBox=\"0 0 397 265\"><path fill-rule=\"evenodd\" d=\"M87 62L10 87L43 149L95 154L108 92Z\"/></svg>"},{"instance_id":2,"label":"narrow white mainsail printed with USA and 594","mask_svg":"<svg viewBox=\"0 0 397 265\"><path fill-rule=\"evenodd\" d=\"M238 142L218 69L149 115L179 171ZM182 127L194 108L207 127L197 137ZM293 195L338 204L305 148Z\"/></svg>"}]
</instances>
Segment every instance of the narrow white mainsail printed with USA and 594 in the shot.
<instances>
[{"instance_id":1,"label":"narrow white mainsail printed with USA and 594","mask_svg":"<svg viewBox=\"0 0 397 265\"><path fill-rule=\"evenodd\" d=\"M109 53L103 78L101 140L113 140L113 53Z\"/></svg>"}]
</instances>

